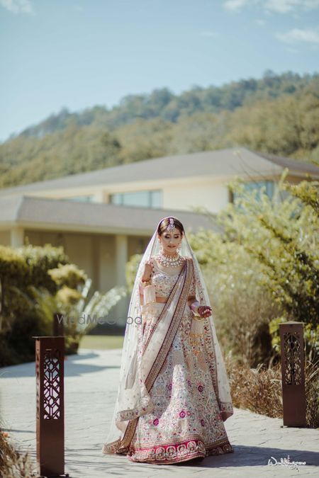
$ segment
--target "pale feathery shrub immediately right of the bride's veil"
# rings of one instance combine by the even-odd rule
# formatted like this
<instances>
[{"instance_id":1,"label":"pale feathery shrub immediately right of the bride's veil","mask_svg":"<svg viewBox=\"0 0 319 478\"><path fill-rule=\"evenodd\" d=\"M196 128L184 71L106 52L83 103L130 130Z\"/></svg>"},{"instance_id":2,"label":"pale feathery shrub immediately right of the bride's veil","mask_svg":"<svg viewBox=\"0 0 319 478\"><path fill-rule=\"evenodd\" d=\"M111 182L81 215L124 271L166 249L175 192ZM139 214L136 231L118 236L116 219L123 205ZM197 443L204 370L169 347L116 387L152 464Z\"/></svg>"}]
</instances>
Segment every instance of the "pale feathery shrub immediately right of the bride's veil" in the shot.
<instances>
[{"instance_id":1,"label":"pale feathery shrub immediately right of the bride's veil","mask_svg":"<svg viewBox=\"0 0 319 478\"><path fill-rule=\"evenodd\" d=\"M256 367L272 358L272 337L268 322L279 312L272 297L258 278L262 271L257 261L235 243L223 242L218 234L209 232L191 236L192 247L201 262L213 320L225 352L232 351L238 360ZM202 241L211 252L201 247ZM198 250L198 247L201 249ZM203 263L203 261L206 261Z\"/></svg>"}]
</instances>

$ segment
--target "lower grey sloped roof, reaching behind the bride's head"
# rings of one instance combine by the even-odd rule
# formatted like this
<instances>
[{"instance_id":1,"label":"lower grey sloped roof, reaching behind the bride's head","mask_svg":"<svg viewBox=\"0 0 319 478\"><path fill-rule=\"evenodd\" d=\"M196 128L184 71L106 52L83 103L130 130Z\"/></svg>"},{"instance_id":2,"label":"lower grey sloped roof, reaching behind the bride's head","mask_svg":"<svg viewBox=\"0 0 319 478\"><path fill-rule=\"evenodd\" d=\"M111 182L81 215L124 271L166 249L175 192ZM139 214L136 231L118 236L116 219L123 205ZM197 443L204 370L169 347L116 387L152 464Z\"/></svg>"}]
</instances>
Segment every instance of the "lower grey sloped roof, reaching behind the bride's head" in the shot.
<instances>
[{"instance_id":1,"label":"lower grey sloped roof, reaching behind the bride's head","mask_svg":"<svg viewBox=\"0 0 319 478\"><path fill-rule=\"evenodd\" d=\"M30 196L0 198L1 229L16 225L30 229L148 236L154 232L159 220L170 215L182 222L186 232L196 232L200 227L218 230L206 215L196 212L78 203Z\"/></svg>"}]
</instances>

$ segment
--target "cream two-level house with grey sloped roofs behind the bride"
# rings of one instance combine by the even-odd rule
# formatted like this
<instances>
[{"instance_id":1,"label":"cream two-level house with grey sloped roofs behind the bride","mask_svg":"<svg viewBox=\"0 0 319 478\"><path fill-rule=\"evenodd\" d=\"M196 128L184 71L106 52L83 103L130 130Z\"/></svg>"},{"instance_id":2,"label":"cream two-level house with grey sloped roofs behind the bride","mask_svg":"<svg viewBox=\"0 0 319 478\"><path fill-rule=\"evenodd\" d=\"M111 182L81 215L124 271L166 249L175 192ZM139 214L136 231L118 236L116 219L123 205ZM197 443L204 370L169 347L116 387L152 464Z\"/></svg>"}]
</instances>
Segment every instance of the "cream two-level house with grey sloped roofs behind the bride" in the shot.
<instances>
[{"instance_id":1,"label":"cream two-level house with grey sloped roofs behind the bride","mask_svg":"<svg viewBox=\"0 0 319 478\"><path fill-rule=\"evenodd\" d=\"M144 251L157 222L179 217L186 232L211 228L205 207L218 213L233 200L228 182L266 186L272 195L284 168L287 181L319 178L319 168L243 147L138 161L0 190L0 244L64 246L72 262L105 292L125 284L125 263Z\"/></svg>"}]
</instances>

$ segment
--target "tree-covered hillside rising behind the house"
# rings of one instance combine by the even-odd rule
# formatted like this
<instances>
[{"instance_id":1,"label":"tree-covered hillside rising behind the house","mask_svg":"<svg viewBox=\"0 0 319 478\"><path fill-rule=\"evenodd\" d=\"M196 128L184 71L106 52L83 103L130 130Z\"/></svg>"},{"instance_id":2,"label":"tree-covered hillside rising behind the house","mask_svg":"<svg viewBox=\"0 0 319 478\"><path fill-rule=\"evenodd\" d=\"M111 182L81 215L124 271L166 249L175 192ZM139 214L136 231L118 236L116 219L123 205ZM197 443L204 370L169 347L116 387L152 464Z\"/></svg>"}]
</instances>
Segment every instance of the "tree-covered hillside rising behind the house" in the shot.
<instances>
[{"instance_id":1,"label":"tree-covered hillside rising behind the house","mask_svg":"<svg viewBox=\"0 0 319 478\"><path fill-rule=\"evenodd\" d=\"M319 74L265 72L174 95L126 96L112 109L64 108L0 144L0 188L167 154L245 146L319 159Z\"/></svg>"}]
</instances>

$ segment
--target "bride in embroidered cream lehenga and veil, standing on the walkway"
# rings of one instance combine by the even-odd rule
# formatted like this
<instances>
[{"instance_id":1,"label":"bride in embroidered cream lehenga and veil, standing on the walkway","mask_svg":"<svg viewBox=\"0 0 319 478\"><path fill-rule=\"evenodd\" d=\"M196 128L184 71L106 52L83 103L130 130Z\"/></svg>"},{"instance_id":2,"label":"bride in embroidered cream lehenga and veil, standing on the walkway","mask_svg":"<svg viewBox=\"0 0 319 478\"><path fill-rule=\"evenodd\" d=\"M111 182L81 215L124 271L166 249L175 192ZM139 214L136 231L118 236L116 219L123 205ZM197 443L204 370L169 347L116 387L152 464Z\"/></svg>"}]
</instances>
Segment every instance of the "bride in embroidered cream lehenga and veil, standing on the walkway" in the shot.
<instances>
[{"instance_id":1,"label":"bride in embroidered cream lehenga and veil, standing on the walkway","mask_svg":"<svg viewBox=\"0 0 319 478\"><path fill-rule=\"evenodd\" d=\"M158 465L231 453L231 415L203 275L181 222L164 217L135 278L102 453Z\"/></svg>"}]
</instances>

